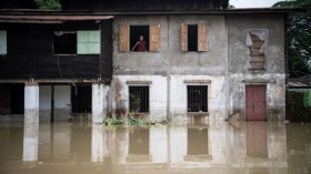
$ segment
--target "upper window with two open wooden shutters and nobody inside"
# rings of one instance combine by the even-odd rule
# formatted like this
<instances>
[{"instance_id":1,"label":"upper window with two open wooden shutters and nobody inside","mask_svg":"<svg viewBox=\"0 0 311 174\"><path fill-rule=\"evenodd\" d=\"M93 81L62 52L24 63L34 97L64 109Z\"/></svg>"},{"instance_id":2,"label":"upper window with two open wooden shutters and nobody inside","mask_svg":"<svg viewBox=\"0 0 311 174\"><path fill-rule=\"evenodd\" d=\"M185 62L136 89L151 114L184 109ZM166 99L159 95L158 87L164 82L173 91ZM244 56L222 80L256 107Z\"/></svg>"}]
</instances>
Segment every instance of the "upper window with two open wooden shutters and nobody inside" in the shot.
<instances>
[{"instance_id":1,"label":"upper window with two open wooden shutters and nobody inside","mask_svg":"<svg viewBox=\"0 0 311 174\"><path fill-rule=\"evenodd\" d=\"M207 24L181 24L182 51L208 51Z\"/></svg>"}]
</instances>

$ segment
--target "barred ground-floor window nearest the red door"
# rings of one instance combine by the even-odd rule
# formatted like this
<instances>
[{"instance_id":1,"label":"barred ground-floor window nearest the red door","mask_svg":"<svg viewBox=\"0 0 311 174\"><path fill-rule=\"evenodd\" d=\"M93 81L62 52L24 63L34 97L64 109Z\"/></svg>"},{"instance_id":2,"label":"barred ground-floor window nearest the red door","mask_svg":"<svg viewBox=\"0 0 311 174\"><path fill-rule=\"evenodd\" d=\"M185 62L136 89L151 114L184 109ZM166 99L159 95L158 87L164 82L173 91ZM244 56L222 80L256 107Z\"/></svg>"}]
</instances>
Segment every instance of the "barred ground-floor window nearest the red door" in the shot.
<instances>
[{"instance_id":1,"label":"barred ground-floor window nearest the red door","mask_svg":"<svg viewBox=\"0 0 311 174\"><path fill-rule=\"evenodd\" d=\"M188 112L208 112L208 85L188 85Z\"/></svg>"}]
</instances>

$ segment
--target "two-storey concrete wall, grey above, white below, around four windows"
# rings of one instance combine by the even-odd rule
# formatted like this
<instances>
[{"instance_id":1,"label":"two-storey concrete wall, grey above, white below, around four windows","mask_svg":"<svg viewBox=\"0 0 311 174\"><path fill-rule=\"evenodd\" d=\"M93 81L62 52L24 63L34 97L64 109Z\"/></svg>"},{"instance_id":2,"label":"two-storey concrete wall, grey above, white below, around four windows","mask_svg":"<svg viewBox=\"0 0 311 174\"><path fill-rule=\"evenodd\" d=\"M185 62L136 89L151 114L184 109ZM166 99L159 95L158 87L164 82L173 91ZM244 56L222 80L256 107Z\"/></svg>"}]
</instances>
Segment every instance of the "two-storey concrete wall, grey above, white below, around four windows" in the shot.
<instances>
[{"instance_id":1,"label":"two-storey concrete wall, grey above, white below, around four windows","mask_svg":"<svg viewBox=\"0 0 311 174\"><path fill-rule=\"evenodd\" d=\"M181 24L208 24L208 51L181 51ZM119 52L119 25L160 24L159 52ZM128 113L127 81L151 81L150 117L187 116L184 80L210 81L211 119L225 117L227 34L223 16L117 17L113 21L112 114ZM170 101L167 106L167 101Z\"/></svg>"}]
</instances>

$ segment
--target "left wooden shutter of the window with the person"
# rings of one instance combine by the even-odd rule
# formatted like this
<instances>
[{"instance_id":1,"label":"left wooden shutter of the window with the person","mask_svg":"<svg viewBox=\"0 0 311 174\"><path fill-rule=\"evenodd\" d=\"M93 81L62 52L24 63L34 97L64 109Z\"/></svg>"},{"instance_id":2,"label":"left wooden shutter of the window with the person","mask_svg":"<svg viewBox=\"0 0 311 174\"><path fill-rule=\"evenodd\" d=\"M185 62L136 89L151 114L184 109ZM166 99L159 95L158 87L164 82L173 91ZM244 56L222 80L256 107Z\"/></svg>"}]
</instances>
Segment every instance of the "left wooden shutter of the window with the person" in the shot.
<instances>
[{"instance_id":1,"label":"left wooden shutter of the window with the person","mask_svg":"<svg viewBox=\"0 0 311 174\"><path fill-rule=\"evenodd\" d=\"M128 24L119 25L119 51L130 51L130 27Z\"/></svg>"}]
</instances>

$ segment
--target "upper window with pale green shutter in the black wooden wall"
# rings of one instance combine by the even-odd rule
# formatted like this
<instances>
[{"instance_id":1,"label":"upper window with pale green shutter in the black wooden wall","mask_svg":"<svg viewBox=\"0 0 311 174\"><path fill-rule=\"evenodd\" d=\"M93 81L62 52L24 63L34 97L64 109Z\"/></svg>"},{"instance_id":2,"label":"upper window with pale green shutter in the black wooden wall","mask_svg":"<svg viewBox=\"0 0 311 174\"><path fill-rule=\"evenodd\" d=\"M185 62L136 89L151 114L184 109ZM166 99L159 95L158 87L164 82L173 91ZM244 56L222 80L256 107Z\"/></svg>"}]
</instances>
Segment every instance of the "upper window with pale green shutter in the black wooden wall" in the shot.
<instances>
[{"instance_id":1,"label":"upper window with pale green shutter in the black wooden wall","mask_svg":"<svg viewBox=\"0 0 311 174\"><path fill-rule=\"evenodd\" d=\"M56 31L54 54L99 54L100 31Z\"/></svg>"}]
</instances>

